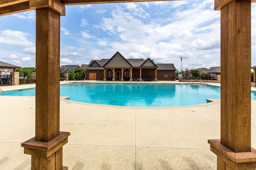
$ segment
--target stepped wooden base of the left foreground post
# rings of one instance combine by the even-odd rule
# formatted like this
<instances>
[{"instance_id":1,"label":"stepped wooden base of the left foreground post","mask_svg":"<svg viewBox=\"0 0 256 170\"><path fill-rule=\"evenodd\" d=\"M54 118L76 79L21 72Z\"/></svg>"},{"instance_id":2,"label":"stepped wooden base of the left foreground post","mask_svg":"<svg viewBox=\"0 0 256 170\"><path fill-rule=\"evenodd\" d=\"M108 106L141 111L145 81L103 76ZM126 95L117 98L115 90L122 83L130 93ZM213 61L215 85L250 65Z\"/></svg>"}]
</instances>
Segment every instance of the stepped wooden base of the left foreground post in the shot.
<instances>
[{"instance_id":1,"label":"stepped wooden base of the left foreground post","mask_svg":"<svg viewBox=\"0 0 256 170\"><path fill-rule=\"evenodd\" d=\"M32 170L68 170L62 166L62 147L68 143L70 132L60 135L49 142L36 141L35 137L22 143L24 153L32 155Z\"/></svg>"}]
</instances>

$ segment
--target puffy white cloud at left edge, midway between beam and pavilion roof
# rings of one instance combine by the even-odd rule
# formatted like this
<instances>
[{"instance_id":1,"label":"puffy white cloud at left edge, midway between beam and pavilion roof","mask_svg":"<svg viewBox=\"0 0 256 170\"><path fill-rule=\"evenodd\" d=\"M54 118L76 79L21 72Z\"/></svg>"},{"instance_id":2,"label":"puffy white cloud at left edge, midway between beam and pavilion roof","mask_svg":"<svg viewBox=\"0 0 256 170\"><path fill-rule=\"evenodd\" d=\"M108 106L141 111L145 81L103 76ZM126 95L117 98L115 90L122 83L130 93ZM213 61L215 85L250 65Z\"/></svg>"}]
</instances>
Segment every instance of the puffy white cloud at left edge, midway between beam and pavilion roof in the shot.
<instances>
[{"instance_id":1,"label":"puffy white cloud at left edge, midway between beam and pavilion roof","mask_svg":"<svg viewBox=\"0 0 256 170\"><path fill-rule=\"evenodd\" d=\"M26 47L34 46L34 43L28 40L28 37L31 35L26 32L6 29L4 31L0 31L0 35L0 43Z\"/></svg>"}]
</instances>

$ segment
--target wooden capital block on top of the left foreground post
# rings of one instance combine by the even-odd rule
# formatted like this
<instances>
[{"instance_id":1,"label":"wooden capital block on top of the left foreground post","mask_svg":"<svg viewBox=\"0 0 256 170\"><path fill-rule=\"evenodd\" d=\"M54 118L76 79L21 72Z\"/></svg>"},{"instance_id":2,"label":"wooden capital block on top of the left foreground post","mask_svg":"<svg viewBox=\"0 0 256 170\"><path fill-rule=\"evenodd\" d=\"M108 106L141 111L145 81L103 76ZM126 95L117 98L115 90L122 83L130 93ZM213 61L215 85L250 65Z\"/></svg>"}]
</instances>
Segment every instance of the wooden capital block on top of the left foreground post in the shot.
<instances>
[{"instance_id":1,"label":"wooden capital block on top of the left foreground post","mask_svg":"<svg viewBox=\"0 0 256 170\"><path fill-rule=\"evenodd\" d=\"M30 0L29 7L36 10L39 8L51 8L61 16L65 16L65 6L59 0Z\"/></svg>"}]
</instances>

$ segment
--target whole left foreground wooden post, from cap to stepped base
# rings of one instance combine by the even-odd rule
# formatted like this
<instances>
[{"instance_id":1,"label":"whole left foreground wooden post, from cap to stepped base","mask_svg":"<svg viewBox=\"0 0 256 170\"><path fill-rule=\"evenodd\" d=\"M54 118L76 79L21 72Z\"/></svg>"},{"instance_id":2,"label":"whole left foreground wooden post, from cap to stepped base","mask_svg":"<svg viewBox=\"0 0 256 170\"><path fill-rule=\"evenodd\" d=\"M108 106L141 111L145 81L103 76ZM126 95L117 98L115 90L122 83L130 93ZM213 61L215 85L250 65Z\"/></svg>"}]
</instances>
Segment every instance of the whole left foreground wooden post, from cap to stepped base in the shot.
<instances>
[{"instance_id":1,"label":"whole left foreground wooden post, from cap to stepped base","mask_svg":"<svg viewBox=\"0 0 256 170\"><path fill-rule=\"evenodd\" d=\"M22 147L32 155L32 170L67 170L62 166L62 146L70 133L60 132L59 75L60 14L65 14L65 7L58 0L47 3L30 0L30 8L36 9L36 131Z\"/></svg>"}]
</instances>

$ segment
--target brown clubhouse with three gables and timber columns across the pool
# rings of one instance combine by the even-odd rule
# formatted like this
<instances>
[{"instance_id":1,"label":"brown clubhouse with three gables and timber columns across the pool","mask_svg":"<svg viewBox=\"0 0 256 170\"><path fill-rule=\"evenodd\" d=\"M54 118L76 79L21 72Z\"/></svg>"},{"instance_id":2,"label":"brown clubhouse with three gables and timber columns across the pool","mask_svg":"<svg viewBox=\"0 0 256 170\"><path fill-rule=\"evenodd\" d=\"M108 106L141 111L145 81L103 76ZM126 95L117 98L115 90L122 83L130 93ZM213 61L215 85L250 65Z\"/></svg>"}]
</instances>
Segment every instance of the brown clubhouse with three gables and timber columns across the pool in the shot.
<instances>
[{"instance_id":1,"label":"brown clubhouse with three gables and timber columns across the pool","mask_svg":"<svg viewBox=\"0 0 256 170\"><path fill-rule=\"evenodd\" d=\"M173 80L174 64L156 64L151 59L125 59L119 52L111 59L92 60L85 68L87 80Z\"/></svg>"}]
</instances>

